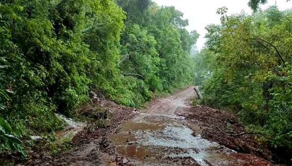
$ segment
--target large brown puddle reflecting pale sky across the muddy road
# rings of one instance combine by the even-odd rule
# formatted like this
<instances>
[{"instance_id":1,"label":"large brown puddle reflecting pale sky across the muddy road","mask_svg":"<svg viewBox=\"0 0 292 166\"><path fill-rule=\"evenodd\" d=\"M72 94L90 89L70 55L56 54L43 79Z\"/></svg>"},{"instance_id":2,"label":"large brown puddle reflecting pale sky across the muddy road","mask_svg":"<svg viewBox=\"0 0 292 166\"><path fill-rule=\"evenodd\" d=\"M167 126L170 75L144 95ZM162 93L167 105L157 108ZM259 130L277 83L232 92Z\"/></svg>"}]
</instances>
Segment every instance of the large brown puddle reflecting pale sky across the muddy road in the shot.
<instances>
[{"instance_id":1,"label":"large brown puddle reflecting pale sky across the muddy road","mask_svg":"<svg viewBox=\"0 0 292 166\"><path fill-rule=\"evenodd\" d=\"M120 133L111 136L111 141L120 155L148 164L163 163L167 157L191 157L202 166L207 166L206 161L219 166L234 160L228 155L231 150L223 148L224 154L219 153L219 144L201 138L200 126L182 120L138 117L127 121Z\"/></svg>"}]
</instances>

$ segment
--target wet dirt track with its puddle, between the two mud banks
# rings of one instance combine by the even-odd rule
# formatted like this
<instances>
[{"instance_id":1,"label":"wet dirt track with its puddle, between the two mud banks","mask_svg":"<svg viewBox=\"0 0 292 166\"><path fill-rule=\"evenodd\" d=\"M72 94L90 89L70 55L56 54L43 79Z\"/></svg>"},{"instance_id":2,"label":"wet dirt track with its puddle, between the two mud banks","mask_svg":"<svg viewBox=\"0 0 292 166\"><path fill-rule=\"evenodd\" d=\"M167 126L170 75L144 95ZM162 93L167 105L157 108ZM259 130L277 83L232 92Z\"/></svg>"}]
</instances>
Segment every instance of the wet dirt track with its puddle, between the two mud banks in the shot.
<instances>
[{"instance_id":1,"label":"wet dirt track with its puddle, between the two mud banks","mask_svg":"<svg viewBox=\"0 0 292 166\"><path fill-rule=\"evenodd\" d=\"M184 100L194 96L188 88L161 99L140 116L127 121L118 134L111 136L117 152L137 165L175 165L169 158L191 157L202 166L232 165L230 149L201 138L201 128L176 116L177 109L187 107Z\"/></svg>"}]
</instances>

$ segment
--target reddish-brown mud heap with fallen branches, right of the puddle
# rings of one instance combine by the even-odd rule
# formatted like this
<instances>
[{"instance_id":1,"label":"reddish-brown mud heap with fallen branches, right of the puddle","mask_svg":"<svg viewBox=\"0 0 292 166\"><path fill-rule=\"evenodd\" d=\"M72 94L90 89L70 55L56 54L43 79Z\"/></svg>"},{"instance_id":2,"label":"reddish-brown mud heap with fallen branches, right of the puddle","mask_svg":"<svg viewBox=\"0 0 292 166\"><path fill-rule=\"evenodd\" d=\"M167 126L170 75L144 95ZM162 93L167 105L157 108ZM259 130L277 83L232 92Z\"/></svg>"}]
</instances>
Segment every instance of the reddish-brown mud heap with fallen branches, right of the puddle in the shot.
<instances>
[{"instance_id":1,"label":"reddish-brown mud heap with fallen branches, right of the puddle","mask_svg":"<svg viewBox=\"0 0 292 166\"><path fill-rule=\"evenodd\" d=\"M184 108L178 113L185 116L190 123L201 126L201 136L203 138L217 142L239 153L245 153L231 154L246 161L240 163L240 165L270 166L273 165L272 163L279 162L279 159L269 150L267 144L256 143L255 136L263 135L246 132L233 114L227 111L219 111L207 106L193 106Z\"/></svg>"}]
</instances>

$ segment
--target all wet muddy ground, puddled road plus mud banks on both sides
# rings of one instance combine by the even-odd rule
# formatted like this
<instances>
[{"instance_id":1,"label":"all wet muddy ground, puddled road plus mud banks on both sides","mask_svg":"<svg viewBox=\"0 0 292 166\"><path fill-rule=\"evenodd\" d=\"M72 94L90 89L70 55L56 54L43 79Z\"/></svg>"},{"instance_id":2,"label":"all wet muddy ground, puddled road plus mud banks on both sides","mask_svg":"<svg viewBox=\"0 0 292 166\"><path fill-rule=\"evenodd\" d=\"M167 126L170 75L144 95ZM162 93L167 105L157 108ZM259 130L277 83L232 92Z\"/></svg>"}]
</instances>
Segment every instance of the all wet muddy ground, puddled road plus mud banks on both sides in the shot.
<instances>
[{"instance_id":1,"label":"all wet muddy ground, puddled road plus mud banks on both sides","mask_svg":"<svg viewBox=\"0 0 292 166\"><path fill-rule=\"evenodd\" d=\"M57 133L62 137L78 132L66 144L67 150L53 155L50 149L42 148L43 144L36 143L26 159L17 154L3 155L0 165L273 166L273 154L265 145L256 143L255 135L234 136L245 130L232 114L190 106L188 99L192 97L195 91L189 87L153 100L145 110L96 100L80 113L96 118L95 110L106 110L104 127L94 122L76 123Z\"/></svg>"}]
</instances>

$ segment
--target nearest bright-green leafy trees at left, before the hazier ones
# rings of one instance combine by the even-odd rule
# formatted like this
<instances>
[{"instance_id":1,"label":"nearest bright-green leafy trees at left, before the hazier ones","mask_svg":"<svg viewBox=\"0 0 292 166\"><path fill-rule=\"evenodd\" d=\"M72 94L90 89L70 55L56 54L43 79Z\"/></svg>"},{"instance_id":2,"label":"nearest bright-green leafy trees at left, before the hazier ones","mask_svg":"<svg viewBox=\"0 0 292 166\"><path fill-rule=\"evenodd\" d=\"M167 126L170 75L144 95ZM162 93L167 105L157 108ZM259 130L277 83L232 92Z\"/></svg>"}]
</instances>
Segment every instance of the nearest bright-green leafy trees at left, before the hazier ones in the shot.
<instances>
[{"instance_id":1,"label":"nearest bright-green leafy trees at left, before the hazier ones","mask_svg":"<svg viewBox=\"0 0 292 166\"><path fill-rule=\"evenodd\" d=\"M0 18L0 116L8 123L59 130L55 113L74 116L92 84L114 94L107 77L118 80L125 18L115 1L1 0Z\"/></svg>"}]
</instances>

